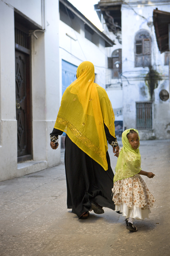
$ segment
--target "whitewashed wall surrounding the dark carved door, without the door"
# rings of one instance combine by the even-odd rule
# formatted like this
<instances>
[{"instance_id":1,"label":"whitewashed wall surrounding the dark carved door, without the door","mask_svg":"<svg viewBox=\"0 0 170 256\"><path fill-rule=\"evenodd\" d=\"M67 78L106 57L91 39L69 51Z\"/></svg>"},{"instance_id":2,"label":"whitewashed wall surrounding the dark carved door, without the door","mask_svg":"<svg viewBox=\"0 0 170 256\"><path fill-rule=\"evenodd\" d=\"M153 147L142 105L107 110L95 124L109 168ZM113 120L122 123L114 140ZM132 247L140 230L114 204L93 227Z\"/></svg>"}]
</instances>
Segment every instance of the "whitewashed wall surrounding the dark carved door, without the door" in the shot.
<instances>
[{"instance_id":1,"label":"whitewashed wall surrounding the dark carved door, without the door","mask_svg":"<svg viewBox=\"0 0 170 256\"><path fill-rule=\"evenodd\" d=\"M42 5L42 6L41 6ZM33 161L17 164L14 8L45 29L32 37ZM45 16L44 16L45 13ZM0 180L36 172L60 162L50 147L59 109L58 1L0 2ZM44 24L43 24L44 23Z\"/></svg>"}]
</instances>

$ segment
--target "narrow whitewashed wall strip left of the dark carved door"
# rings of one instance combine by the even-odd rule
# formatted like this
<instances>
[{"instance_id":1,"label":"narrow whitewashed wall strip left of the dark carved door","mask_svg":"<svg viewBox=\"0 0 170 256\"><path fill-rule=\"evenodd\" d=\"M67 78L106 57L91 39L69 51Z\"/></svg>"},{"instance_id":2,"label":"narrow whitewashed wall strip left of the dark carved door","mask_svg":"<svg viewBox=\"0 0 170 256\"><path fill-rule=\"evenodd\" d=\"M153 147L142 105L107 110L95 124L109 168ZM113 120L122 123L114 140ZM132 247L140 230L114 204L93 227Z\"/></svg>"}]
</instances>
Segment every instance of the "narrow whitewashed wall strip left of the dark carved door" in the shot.
<instances>
[{"instance_id":1,"label":"narrow whitewashed wall strip left of the dark carved door","mask_svg":"<svg viewBox=\"0 0 170 256\"><path fill-rule=\"evenodd\" d=\"M14 11L0 2L0 180L17 173L17 122L15 110ZM15 134L14 134L15 133Z\"/></svg>"}]
</instances>

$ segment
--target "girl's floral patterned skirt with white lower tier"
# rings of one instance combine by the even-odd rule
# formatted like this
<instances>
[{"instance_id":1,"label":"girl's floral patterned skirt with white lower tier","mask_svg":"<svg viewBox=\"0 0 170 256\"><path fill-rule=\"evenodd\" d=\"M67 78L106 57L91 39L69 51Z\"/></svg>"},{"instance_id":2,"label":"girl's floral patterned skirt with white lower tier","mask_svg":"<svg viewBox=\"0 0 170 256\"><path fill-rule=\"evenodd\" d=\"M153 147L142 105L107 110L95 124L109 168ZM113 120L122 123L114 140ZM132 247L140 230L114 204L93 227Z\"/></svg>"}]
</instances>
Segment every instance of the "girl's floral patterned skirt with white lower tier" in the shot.
<instances>
[{"instance_id":1,"label":"girl's floral patterned skirt with white lower tier","mask_svg":"<svg viewBox=\"0 0 170 256\"><path fill-rule=\"evenodd\" d=\"M112 188L115 211L135 219L149 218L155 198L139 174L114 182Z\"/></svg>"}]
</instances>

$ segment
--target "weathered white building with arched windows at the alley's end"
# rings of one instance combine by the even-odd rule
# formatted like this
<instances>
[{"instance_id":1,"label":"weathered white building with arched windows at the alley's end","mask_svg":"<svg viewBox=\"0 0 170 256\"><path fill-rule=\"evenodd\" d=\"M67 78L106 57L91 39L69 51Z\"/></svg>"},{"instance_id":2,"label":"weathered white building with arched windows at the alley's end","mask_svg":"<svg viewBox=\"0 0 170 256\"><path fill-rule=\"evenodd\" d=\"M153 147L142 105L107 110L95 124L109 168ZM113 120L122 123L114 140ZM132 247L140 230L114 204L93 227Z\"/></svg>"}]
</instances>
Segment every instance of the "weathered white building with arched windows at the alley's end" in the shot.
<instances>
[{"instance_id":1,"label":"weathered white building with arched windows at the alley's end","mask_svg":"<svg viewBox=\"0 0 170 256\"><path fill-rule=\"evenodd\" d=\"M101 0L95 7L119 44L108 55L112 104L119 104L114 97L119 93L123 130L134 127L141 139L170 137L169 52L161 54L157 46L153 26L156 8L169 11L169 1Z\"/></svg>"}]
</instances>

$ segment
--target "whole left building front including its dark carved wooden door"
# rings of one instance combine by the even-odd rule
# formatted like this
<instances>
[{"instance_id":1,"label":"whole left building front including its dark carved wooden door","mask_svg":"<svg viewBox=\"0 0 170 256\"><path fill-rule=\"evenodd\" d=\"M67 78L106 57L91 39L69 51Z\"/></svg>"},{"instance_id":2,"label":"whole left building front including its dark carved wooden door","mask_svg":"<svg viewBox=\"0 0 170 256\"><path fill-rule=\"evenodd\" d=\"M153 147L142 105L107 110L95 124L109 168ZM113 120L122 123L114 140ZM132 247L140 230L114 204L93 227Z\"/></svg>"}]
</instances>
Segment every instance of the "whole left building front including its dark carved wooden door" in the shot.
<instances>
[{"instance_id":1,"label":"whole left building front including its dark carved wooden door","mask_svg":"<svg viewBox=\"0 0 170 256\"><path fill-rule=\"evenodd\" d=\"M58 1L0 2L0 180L60 162Z\"/></svg>"}]
</instances>

